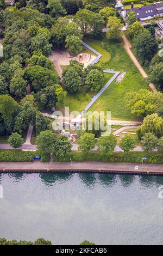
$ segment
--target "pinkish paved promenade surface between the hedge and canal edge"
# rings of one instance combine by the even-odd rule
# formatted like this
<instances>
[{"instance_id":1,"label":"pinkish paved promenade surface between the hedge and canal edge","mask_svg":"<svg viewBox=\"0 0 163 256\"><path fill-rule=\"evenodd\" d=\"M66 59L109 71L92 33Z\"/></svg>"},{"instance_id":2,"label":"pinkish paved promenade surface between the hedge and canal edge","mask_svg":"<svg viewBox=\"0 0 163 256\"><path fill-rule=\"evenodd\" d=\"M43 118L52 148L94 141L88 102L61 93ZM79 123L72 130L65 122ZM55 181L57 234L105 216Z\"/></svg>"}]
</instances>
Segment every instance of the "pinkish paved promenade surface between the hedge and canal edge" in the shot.
<instances>
[{"instance_id":1,"label":"pinkish paved promenade surface between the hedge and canal edge","mask_svg":"<svg viewBox=\"0 0 163 256\"><path fill-rule=\"evenodd\" d=\"M135 166L138 166L138 169L135 169ZM106 163L106 162L92 162L92 161L83 161L83 162L51 162L51 163L41 163L41 162L0 162L0 169L11 169L11 170L110 170L111 172L117 173L118 171L124 172L134 172L137 170L142 171L152 171L152 172L161 172L163 174L163 164L143 164L143 169L141 164L137 163Z\"/></svg>"}]
</instances>

